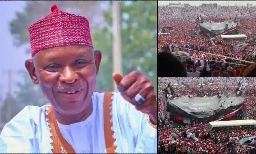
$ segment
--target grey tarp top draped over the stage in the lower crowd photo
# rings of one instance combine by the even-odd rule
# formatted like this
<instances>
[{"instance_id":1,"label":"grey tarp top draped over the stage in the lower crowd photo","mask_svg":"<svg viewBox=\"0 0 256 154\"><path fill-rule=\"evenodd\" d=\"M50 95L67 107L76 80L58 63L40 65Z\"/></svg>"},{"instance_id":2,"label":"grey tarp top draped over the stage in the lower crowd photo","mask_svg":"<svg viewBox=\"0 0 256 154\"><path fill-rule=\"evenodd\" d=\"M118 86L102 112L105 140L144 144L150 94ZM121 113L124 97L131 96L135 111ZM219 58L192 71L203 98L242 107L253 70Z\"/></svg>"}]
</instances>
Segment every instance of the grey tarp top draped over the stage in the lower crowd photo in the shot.
<instances>
[{"instance_id":1,"label":"grey tarp top draped over the stage in the lower crowd photo","mask_svg":"<svg viewBox=\"0 0 256 154\"><path fill-rule=\"evenodd\" d=\"M222 101L225 101L224 107L220 107L219 99L217 95L212 97L192 97L189 98L188 96L182 96L179 98L174 98L173 100L168 100L169 106L174 108L179 108L182 112L186 112L189 115L198 117L198 118L207 118L214 115L214 110L219 112L220 110L229 110L231 106L241 105L242 97L240 96L229 96L221 97ZM231 109L232 110L232 109ZM231 113L231 112L230 112Z\"/></svg>"}]
</instances>

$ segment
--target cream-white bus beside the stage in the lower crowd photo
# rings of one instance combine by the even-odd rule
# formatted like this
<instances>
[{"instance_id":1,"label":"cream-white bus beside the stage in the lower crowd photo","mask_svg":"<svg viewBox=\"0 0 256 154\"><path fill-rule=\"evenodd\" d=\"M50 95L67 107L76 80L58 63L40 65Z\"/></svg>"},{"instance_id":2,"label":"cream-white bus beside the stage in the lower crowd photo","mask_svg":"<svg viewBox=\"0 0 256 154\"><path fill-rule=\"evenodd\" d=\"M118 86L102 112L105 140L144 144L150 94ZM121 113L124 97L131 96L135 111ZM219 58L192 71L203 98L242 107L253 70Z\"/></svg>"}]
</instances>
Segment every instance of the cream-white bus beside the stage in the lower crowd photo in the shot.
<instances>
[{"instance_id":1,"label":"cream-white bus beside the stage in the lower crowd photo","mask_svg":"<svg viewBox=\"0 0 256 154\"><path fill-rule=\"evenodd\" d=\"M256 129L256 120L228 120L228 121L212 121L208 123L209 130L223 129Z\"/></svg>"}]
</instances>

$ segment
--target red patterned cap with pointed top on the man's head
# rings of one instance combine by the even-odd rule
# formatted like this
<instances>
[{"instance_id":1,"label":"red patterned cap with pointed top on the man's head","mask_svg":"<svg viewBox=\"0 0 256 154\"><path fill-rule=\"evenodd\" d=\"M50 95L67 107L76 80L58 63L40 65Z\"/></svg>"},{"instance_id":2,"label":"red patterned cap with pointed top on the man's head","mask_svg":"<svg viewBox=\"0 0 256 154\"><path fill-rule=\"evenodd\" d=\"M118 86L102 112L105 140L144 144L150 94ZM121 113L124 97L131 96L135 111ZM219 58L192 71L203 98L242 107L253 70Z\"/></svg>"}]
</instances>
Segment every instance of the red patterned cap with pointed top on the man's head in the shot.
<instances>
[{"instance_id":1,"label":"red patterned cap with pointed top on the man's head","mask_svg":"<svg viewBox=\"0 0 256 154\"><path fill-rule=\"evenodd\" d=\"M51 13L29 27L31 57L38 51L64 45L93 48L89 22L85 17L61 11L56 5Z\"/></svg>"}]
</instances>

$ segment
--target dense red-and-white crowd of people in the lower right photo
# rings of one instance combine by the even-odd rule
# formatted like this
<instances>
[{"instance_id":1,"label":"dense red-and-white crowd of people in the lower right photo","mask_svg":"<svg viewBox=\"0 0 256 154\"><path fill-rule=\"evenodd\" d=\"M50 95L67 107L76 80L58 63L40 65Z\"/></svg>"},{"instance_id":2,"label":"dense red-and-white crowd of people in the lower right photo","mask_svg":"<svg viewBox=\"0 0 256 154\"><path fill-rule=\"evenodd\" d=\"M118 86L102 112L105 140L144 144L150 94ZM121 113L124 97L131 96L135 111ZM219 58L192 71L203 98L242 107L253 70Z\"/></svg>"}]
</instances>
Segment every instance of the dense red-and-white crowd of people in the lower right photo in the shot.
<instances>
[{"instance_id":1,"label":"dense red-and-white crowd of people in the lower right photo","mask_svg":"<svg viewBox=\"0 0 256 154\"><path fill-rule=\"evenodd\" d=\"M256 78L158 78L158 119L165 121L166 101L163 89L168 83L175 91L175 97L190 95L203 97L216 95L235 95L238 83L245 93L242 93L247 108L247 119L256 119ZM210 84L214 83L214 84ZM201 84L203 90L200 90ZM228 88L227 88L228 87ZM227 90L228 89L228 90ZM173 124L174 125L174 124ZM188 139L188 136L193 138ZM164 124L158 128L158 150L160 153L251 153L255 152L255 143L239 144L238 139L245 136L256 136L256 130L236 129L213 132L207 130L205 124L186 125L173 128L170 124ZM232 147L232 148L231 148ZM232 151L233 150L233 151Z\"/></svg>"}]
</instances>

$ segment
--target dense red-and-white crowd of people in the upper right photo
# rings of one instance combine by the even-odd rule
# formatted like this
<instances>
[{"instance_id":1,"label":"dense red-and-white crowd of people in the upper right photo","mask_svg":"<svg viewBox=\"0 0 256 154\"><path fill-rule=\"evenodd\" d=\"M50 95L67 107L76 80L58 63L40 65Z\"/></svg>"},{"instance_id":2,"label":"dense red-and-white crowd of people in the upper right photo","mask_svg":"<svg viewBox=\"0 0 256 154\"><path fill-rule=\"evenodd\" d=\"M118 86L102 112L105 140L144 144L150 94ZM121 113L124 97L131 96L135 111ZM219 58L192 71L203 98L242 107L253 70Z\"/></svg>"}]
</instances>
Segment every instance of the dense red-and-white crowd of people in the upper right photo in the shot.
<instances>
[{"instance_id":1,"label":"dense red-and-white crowd of people in the upper right photo","mask_svg":"<svg viewBox=\"0 0 256 154\"><path fill-rule=\"evenodd\" d=\"M192 37L197 31L196 19L199 16L203 22L232 22L237 16L241 34L245 34L247 40L222 41L219 44L216 39L209 44L209 37ZM171 27L169 34L158 34L158 52L162 52L164 46L170 46L173 51L188 52L190 59L184 63L189 77L237 77L248 62L256 62L255 17L256 7L158 6L158 28ZM236 47L237 43L244 45ZM203 66L208 72L200 74ZM214 70L215 73L212 73Z\"/></svg>"}]
</instances>

